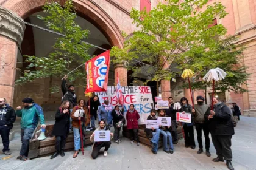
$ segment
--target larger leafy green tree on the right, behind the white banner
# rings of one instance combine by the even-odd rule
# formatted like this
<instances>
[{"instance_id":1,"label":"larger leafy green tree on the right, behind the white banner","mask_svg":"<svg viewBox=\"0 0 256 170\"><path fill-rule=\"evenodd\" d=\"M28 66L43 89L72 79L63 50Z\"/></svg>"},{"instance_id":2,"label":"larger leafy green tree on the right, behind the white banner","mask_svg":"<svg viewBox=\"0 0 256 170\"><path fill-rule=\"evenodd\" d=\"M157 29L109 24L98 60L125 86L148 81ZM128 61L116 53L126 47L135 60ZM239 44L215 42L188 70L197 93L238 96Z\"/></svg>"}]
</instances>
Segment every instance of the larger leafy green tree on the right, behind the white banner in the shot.
<instances>
[{"instance_id":1,"label":"larger leafy green tree on the right, behind the white banner","mask_svg":"<svg viewBox=\"0 0 256 170\"><path fill-rule=\"evenodd\" d=\"M140 60L151 65L143 69L141 64L130 66L133 77L140 72L151 77L148 81L170 80L176 76L169 67L176 63L181 55L185 56L194 50L204 51L215 44L213 32L216 35L225 35L226 29L222 25L208 27L215 18L227 15L225 7L219 2L208 5L204 10L206 0L178 0L165 1L158 4L149 13L132 9L130 17L138 28L133 35L124 42L124 48L112 48L114 62L121 60ZM186 58L187 59L187 58ZM166 68L167 64L167 68Z\"/></svg>"}]
</instances>

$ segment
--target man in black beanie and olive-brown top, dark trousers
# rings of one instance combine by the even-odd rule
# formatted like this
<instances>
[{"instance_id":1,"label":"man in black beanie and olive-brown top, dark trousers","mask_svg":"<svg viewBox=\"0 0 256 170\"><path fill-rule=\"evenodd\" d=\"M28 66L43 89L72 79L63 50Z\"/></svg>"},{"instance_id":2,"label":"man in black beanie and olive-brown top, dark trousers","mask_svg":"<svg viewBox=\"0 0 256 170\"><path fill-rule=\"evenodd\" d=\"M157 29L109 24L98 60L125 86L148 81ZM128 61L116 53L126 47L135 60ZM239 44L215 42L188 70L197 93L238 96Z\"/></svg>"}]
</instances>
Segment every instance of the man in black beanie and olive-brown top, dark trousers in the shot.
<instances>
[{"instance_id":1,"label":"man in black beanie and olive-brown top, dark trousers","mask_svg":"<svg viewBox=\"0 0 256 170\"><path fill-rule=\"evenodd\" d=\"M197 141L199 144L199 150L197 154L202 154L203 146L202 146L202 130L204 131L205 137L205 149L207 157L210 157L210 138L209 138L209 128L208 123L205 122L204 114L207 112L209 106L204 104L204 97L197 96L196 97L197 104L194 104L194 109L192 109L192 113L194 114L194 122L196 123L196 132L197 132Z\"/></svg>"}]
</instances>

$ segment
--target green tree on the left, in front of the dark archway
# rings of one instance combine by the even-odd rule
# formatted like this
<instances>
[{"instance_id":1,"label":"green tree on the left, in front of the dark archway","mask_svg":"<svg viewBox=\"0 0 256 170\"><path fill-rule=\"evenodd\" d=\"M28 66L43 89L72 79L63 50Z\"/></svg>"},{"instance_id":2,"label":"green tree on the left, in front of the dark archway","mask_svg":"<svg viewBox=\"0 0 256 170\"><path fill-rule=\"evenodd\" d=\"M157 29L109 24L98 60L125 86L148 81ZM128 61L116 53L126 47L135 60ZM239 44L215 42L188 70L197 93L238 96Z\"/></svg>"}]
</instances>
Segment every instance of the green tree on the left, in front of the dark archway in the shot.
<instances>
[{"instance_id":1,"label":"green tree on the left, in front of the dark archway","mask_svg":"<svg viewBox=\"0 0 256 170\"><path fill-rule=\"evenodd\" d=\"M16 83L27 83L35 78L50 76L63 77L78 64L85 63L91 58L88 55L90 46L81 42L82 39L88 38L90 32L82 30L76 23L77 15L72 0L66 1L63 7L58 2L49 2L44 5L43 10L46 16L38 16L38 18L44 21L48 29L65 36L56 39L54 51L49 56L43 58L24 56L26 62L30 64L28 70L24 72L24 77L20 77ZM84 77L83 68L71 73L69 80L73 81L81 75Z\"/></svg>"}]
</instances>

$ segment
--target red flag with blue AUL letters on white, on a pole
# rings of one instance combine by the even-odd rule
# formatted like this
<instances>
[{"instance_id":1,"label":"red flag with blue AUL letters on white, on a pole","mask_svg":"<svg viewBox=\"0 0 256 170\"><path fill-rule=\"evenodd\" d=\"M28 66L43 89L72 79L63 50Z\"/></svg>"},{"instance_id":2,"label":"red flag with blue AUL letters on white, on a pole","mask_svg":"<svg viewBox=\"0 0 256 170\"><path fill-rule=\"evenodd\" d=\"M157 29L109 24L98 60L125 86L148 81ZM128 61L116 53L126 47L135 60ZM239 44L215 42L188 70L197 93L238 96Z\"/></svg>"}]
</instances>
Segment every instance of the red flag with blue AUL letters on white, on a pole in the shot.
<instances>
[{"instance_id":1,"label":"red flag with blue AUL letters on white, on a pole","mask_svg":"<svg viewBox=\"0 0 256 170\"><path fill-rule=\"evenodd\" d=\"M109 50L85 63L85 70L87 72L87 88L85 93L107 90L109 63Z\"/></svg>"}]
</instances>

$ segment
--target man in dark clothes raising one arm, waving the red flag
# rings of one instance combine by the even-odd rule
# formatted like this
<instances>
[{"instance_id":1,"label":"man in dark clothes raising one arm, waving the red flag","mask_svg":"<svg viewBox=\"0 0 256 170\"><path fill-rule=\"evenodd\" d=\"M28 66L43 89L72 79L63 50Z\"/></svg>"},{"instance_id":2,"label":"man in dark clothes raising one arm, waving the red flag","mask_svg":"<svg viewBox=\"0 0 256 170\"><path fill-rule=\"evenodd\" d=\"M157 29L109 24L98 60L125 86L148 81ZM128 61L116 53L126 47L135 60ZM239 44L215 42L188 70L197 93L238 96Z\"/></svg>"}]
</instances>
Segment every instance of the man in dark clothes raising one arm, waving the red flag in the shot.
<instances>
[{"instance_id":1,"label":"man in dark clothes raising one arm, waving the red flag","mask_svg":"<svg viewBox=\"0 0 256 170\"><path fill-rule=\"evenodd\" d=\"M69 85L67 89L66 78L68 78L68 75L65 75L62 81L62 93L63 93L62 101L68 100L72 104L72 107L74 107L77 105L77 98L74 91L74 85Z\"/></svg>"}]
</instances>

